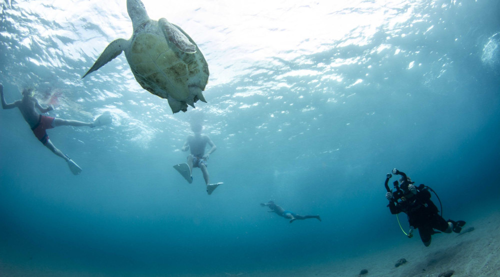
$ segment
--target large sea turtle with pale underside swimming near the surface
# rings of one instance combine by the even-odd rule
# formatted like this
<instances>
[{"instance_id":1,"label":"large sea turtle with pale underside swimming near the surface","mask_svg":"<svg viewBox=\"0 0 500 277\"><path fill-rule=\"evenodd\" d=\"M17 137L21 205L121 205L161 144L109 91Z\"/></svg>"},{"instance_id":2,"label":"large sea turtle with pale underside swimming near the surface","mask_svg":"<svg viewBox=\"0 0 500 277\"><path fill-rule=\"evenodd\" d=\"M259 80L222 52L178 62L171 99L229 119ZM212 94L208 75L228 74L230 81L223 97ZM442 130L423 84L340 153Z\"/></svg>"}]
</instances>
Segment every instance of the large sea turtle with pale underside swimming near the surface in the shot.
<instances>
[{"instance_id":1,"label":"large sea turtle with pale underside swimming near the surface","mask_svg":"<svg viewBox=\"0 0 500 277\"><path fill-rule=\"evenodd\" d=\"M140 0L127 0L132 20L130 39L118 38L104 49L83 75L99 69L125 52L135 80L152 94L166 98L173 113L194 108L208 81L208 64L194 41L179 26L165 18L151 20Z\"/></svg>"}]
</instances>

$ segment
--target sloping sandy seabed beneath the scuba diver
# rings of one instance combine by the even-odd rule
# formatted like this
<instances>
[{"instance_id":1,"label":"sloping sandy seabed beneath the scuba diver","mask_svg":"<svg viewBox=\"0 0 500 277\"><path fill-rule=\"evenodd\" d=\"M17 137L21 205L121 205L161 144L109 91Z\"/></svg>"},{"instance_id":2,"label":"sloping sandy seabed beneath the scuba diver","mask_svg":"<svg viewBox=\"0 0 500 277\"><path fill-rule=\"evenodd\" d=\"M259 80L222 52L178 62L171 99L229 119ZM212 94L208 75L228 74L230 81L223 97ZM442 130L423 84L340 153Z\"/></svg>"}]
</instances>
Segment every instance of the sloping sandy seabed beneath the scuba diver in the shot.
<instances>
[{"instance_id":1,"label":"sloping sandy seabed beneath the scuba diver","mask_svg":"<svg viewBox=\"0 0 500 277\"><path fill-rule=\"evenodd\" d=\"M401 233L402 234L402 233ZM460 234L436 234L424 247L415 230L408 245L396 246L369 255L343 261L316 264L313 267L241 276L346 276L346 277L438 277L453 271L453 277L500 277L500 209L486 209L467 219ZM404 235L402 235L404 236ZM409 240L408 240L409 241ZM399 259L407 262L395 267ZM361 270L366 274L359 275Z\"/></svg>"}]
</instances>

